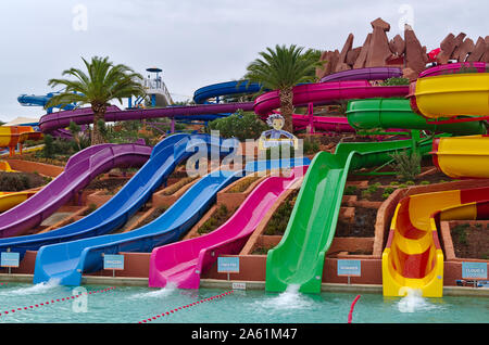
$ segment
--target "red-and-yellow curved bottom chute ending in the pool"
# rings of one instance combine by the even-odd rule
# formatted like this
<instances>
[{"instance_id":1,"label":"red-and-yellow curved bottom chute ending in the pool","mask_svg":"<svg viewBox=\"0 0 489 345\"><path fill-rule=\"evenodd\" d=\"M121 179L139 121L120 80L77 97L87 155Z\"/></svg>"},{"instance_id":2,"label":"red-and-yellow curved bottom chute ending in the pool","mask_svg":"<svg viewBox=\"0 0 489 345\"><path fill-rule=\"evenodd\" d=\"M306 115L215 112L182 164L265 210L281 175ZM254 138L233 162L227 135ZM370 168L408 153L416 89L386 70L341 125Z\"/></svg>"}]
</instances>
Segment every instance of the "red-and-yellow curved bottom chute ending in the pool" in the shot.
<instances>
[{"instance_id":1,"label":"red-and-yellow curved bottom chute ending in the pool","mask_svg":"<svg viewBox=\"0 0 489 345\"><path fill-rule=\"evenodd\" d=\"M489 188L477 188L402 199L383 253L384 295L404 296L410 290L418 290L425 297L441 297L443 253L438 239L439 221L486 218L488 195Z\"/></svg>"}]
</instances>

